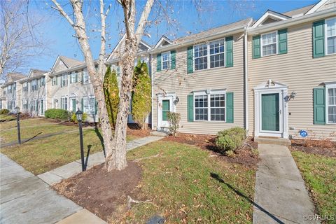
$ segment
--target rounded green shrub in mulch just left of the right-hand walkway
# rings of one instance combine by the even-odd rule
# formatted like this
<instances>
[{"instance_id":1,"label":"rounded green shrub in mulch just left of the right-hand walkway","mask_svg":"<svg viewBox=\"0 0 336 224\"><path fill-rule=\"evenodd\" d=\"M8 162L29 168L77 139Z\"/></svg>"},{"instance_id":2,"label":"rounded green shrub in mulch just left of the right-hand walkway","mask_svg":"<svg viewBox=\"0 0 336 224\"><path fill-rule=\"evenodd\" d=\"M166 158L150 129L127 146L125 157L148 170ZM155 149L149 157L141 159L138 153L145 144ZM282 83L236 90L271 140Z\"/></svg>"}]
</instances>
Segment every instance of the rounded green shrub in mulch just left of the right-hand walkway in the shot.
<instances>
[{"instance_id":1,"label":"rounded green shrub in mulch just left of the right-hand walkway","mask_svg":"<svg viewBox=\"0 0 336 224\"><path fill-rule=\"evenodd\" d=\"M218 132L216 137L216 146L222 151L235 151L243 146L246 132L244 128L232 127L228 130Z\"/></svg>"}]
</instances>

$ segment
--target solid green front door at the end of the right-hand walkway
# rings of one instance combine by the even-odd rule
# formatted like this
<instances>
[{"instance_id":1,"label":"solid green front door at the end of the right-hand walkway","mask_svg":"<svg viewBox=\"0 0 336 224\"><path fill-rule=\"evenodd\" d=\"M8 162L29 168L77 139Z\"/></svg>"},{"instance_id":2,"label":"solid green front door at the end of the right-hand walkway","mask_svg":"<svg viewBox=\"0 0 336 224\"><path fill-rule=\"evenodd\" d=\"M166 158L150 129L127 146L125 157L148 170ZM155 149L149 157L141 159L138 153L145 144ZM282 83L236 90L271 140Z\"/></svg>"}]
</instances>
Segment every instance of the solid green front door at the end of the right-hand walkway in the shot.
<instances>
[{"instance_id":1,"label":"solid green front door at the end of the right-hand walkway","mask_svg":"<svg viewBox=\"0 0 336 224\"><path fill-rule=\"evenodd\" d=\"M279 93L261 94L261 130L280 130Z\"/></svg>"}]
</instances>

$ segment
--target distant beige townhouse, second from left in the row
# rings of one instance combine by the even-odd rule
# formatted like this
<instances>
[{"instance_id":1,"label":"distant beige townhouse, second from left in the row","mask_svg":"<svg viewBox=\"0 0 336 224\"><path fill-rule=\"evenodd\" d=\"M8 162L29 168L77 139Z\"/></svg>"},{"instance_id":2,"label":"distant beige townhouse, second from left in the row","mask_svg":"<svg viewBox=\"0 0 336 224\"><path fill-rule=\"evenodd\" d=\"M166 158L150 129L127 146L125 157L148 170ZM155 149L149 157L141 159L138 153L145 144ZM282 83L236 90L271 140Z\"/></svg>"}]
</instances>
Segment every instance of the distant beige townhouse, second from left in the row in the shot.
<instances>
[{"instance_id":1,"label":"distant beige townhouse, second from left in the row","mask_svg":"<svg viewBox=\"0 0 336 224\"><path fill-rule=\"evenodd\" d=\"M20 111L30 116L44 116L45 111L45 76L48 71L30 69L27 78L18 80L20 85Z\"/></svg>"}]
</instances>

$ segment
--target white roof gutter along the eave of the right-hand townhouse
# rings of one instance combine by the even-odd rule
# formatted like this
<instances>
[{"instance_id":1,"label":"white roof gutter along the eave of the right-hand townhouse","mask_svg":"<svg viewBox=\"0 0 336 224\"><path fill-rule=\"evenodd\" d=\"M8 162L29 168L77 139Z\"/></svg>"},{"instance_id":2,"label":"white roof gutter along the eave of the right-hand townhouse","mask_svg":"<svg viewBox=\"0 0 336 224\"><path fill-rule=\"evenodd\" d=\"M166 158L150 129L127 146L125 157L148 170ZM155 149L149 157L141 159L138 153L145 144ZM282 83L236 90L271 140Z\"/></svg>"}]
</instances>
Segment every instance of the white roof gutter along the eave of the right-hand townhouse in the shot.
<instances>
[{"instance_id":1,"label":"white roof gutter along the eave of the right-hand townhouse","mask_svg":"<svg viewBox=\"0 0 336 224\"><path fill-rule=\"evenodd\" d=\"M273 23L269 25L263 25L262 27L256 27L256 28L248 28L248 34L254 35L254 34L260 34L261 32L267 32L267 31L272 31L274 29L282 29L282 28L287 28L289 26L293 25L298 25L302 24L304 22L311 22L314 20L319 20L319 19L324 19L330 16L335 16L336 15L336 10L335 7L330 8L328 10L323 10L317 13L312 13L309 15L302 15L297 18L291 18L288 20L283 20L280 22L276 22L276 25Z\"/></svg>"}]
</instances>

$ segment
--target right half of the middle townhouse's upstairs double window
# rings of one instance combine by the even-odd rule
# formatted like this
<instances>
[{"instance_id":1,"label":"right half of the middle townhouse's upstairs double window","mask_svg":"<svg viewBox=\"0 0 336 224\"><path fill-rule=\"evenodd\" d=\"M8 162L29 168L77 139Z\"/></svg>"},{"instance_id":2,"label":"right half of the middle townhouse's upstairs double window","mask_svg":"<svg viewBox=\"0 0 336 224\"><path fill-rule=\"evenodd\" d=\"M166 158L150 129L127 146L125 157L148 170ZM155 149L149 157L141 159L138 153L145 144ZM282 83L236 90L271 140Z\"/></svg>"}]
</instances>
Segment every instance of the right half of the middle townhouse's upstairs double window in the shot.
<instances>
[{"instance_id":1,"label":"right half of the middle townhouse's upstairs double window","mask_svg":"<svg viewBox=\"0 0 336 224\"><path fill-rule=\"evenodd\" d=\"M210 68L222 67L224 63L224 39L210 42Z\"/></svg>"}]
</instances>

